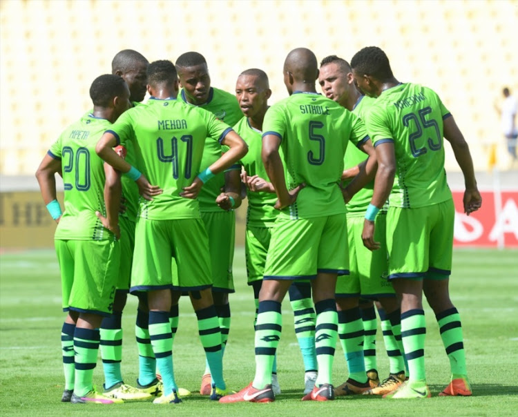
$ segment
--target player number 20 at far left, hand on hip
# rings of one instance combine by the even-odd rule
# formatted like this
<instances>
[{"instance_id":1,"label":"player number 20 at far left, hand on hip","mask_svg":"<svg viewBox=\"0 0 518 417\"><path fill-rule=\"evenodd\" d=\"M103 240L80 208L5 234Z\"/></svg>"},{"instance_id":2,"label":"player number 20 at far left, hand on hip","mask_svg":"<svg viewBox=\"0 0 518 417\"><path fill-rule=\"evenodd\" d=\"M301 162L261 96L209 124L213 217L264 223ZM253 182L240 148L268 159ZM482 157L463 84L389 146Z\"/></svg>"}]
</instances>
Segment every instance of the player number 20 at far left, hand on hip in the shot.
<instances>
[{"instance_id":1,"label":"player number 20 at far left, hand on hip","mask_svg":"<svg viewBox=\"0 0 518 417\"><path fill-rule=\"evenodd\" d=\"M116 179L106 181L105 187L104 164L95 154L95 145L104 130L129 107L130 92L121 77L101 75L90 86L90 97L92 113L61 134L41 162L36 177L50 215L58 223L55 246L63 309L68 311L61 330L65 371L61 401L112 404L123 401L99 394L92 378L99 350L99 325L113 310L120 255L117 238L121 186ZM64 213L56 200L54 176L61 168Z\"/></svg>"}]
</instances>

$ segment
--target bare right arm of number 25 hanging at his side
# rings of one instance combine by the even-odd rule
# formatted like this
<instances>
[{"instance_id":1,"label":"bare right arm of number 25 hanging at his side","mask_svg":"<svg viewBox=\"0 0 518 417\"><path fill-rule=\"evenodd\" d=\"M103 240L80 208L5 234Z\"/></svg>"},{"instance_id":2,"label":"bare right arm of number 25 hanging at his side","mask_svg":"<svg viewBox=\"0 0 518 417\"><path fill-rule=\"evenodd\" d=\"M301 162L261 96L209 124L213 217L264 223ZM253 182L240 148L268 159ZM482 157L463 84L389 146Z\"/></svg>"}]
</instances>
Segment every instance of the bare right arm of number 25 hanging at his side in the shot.
<instances>
[{"instance_id":1,"label":"bare right arm of number 25 hanging at his side","mask_svg":"<svg viewBox=\"0 0 518 417\"><path fill-rule=\"evenodd\" d=\"M446 117L443 123L444 137L452 145L455 159L457 159L457 164L461 167L461 171L464 175L464 185L466 186L463 198L464 213L470 215L473 211L480 209L482 205L482 197L480 196L477 188L477 180L475 180L474 176L470 148L459 126L455 123L453 116Z\"/></svg>"}]
</instances>

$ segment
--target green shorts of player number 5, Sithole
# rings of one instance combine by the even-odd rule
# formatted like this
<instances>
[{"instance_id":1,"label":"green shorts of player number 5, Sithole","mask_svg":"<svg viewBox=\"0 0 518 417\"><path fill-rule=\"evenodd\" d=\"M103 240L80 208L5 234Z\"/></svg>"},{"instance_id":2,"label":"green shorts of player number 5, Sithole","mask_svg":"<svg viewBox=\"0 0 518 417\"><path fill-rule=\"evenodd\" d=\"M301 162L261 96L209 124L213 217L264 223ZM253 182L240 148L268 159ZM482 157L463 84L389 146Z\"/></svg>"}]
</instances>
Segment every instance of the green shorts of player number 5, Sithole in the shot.
<instances>
[{"instance_id":1,"label":"green shorts of player number 5, Sithole","mask_svg":"<svg viewBox=\"0 0 518 417\"><path fill-rule=\"evenodd\" d=\"M309 219L278 217L271 231L265 280L311 280L349 273L345 213Z\"/></svg>"}]
</instances>

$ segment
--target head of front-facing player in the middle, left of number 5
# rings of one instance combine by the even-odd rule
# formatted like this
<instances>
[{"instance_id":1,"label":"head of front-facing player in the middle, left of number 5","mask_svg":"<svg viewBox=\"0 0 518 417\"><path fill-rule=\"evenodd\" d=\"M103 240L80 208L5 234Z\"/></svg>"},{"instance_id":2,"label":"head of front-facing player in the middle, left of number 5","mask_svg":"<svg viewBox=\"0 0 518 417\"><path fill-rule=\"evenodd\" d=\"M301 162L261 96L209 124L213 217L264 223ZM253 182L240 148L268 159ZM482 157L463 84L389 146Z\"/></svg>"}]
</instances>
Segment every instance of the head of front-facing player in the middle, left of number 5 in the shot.
<instances>
[{"instance_id":1,"label":"head of front-facing player in the middle, left of number 5","mask_svg":"<svg viewBox=\"0 0 518 417\"><path fill-rule=\"evenodd\" d=\"M245 116L264 116L270 96L271 90L265 71L250 68L241 72L236 81L236 99Z\"/></svg>"}]
</instances>

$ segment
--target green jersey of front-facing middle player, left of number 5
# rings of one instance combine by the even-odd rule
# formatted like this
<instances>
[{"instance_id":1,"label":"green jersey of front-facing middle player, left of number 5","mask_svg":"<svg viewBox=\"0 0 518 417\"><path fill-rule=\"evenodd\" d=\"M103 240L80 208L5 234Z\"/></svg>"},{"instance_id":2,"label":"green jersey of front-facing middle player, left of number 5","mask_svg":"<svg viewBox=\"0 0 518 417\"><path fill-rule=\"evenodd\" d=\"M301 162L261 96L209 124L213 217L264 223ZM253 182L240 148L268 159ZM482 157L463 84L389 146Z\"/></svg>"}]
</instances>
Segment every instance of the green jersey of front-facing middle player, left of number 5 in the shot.
<instances>
[{"instance_id":1,"label":"green jersey of front-facing middle player, left of number 5","mask_svg":"<svg viewBox=\"0 0 518 417\"><path fill-rule=\"evenodd\" d=\"M247 117L234 126L234 130L248 145L248 153L241 159L241 164L247 175L258 175L269 181L265 165L261 159L262 132L250 126ZM277 195L272 193L253 192L247 188L248 211L247 226L271 227L277 218L278 211L274 209Z\"/></svg>"}]
</instances>

